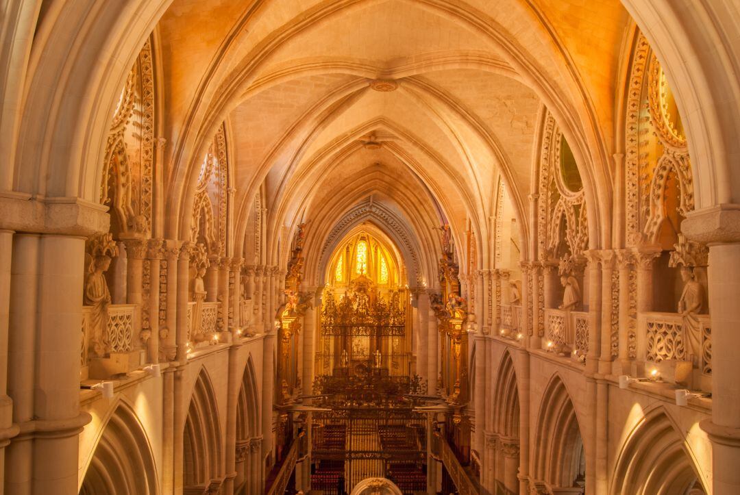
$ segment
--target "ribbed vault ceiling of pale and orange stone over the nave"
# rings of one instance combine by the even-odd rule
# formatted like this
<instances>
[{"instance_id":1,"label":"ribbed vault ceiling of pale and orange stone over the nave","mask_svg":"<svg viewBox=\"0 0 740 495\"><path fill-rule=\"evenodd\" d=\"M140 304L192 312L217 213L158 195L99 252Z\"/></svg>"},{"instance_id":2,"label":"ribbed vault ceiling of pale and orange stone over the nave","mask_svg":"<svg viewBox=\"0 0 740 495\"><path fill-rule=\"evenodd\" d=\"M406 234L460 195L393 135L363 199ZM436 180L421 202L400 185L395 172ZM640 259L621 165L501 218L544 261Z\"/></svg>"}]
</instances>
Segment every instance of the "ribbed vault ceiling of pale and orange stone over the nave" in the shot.
<instances>
[{"instance_id":1,"label":"ribbed vault ceiling of pale and orange stone over the nave","mask_svg":"<svg viewBox=\"0 0 740 495\"><path fill-rule=\"evenodd\" d=\"M628 22L616 0L175 0L159 24L172 188L186 191L226 120L237 246L260 188L273 258L281 226L311 219L320 246L366 201L397 212L425 256L442 218L488 239L499 176L526 228L543 107L589 201L611 195L602 130Z\"/></svg>"}]
</instances>

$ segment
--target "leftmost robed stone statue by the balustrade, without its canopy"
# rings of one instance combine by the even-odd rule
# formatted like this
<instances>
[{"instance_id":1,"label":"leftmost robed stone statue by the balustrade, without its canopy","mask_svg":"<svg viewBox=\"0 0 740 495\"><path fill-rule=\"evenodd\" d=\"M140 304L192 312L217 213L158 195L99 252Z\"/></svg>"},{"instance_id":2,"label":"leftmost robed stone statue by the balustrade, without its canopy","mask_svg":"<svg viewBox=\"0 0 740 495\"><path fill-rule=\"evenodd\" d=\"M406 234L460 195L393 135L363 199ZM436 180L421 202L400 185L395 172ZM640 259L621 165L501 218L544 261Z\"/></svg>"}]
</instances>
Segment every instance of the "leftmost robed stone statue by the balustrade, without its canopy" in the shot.
<instances>
[{"instance_id":1,"label":"leftmost robed stone statue by the balustrade, without its canopy","mask_svg":"<svg viewBox=\"0 0 740 495\"><path fill-rule=\"evenodd\" d=\"M110 267L110 256L97 255L90 263L90 274L85 282L85 304L90 310L90 356L104 357L109 350L107 326L110 292L105 272Z\"/></svg>"}]
</instances>

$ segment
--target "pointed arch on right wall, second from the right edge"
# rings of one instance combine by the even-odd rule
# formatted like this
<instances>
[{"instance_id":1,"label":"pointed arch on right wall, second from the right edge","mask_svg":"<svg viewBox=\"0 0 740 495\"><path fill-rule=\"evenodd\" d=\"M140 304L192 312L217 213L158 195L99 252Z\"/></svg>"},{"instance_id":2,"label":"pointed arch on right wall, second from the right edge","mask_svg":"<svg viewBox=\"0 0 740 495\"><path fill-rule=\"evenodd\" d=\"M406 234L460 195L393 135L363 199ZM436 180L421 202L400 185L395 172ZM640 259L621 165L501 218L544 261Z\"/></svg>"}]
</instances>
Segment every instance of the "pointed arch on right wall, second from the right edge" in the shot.
<instances>
[{"instance_id":1,"label":"pointed arch on right wall, second from the right edge","mask_svg":"<svg viewBox=\"0 0 740 495\"><path fill-rule=\"evenodd\" d=\"M534 432L534 484L571 488L585 482L581 428L565 383L554 374L537 414Z\"/></svg>"}]
</instances>

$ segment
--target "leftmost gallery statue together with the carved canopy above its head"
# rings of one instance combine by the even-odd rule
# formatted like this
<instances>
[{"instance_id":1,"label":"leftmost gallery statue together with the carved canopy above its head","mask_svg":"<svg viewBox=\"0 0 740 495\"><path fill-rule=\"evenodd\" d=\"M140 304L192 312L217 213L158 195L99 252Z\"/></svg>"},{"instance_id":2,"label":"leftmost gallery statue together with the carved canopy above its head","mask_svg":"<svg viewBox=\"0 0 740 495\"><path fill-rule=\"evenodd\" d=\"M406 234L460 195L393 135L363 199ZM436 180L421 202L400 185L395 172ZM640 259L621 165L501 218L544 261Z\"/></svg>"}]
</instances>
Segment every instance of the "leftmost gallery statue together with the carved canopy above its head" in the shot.
<instances>
[{"instance_id":1,"label":"leftmost gallery statue together with the carved canopy above its head","mask_svg":"<svg viewBox=\"0 0 740 495\"><path fill-rule=\"evenodd\" d=\"M112 234L97 234L87 240L84 303L92 306L88 336L90 357L105 357L110 352L107 336L110 292L105 272L110 266L110 260L115 256L118 256L118 246Z\"/></svg>"}]
</instances>

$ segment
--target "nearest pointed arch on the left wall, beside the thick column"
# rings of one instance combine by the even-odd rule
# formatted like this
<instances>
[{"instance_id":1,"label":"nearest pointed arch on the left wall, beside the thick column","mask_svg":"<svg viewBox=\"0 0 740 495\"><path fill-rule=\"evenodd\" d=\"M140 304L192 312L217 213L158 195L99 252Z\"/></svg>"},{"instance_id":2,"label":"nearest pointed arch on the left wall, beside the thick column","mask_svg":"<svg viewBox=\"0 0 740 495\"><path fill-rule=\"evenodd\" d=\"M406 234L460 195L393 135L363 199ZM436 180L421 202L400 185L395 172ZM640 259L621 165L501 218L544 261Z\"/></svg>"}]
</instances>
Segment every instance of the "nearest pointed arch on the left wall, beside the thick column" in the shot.
<instances>
[{"instance_id":1,"label":"nearest pointed arch on the left wall, beside the thick column","mask_svg":"<svg viewBox=\"0 0 740 495\"><path fill-rule=\"evenodd\" d=\"M120 401L92 454L81 495L158 494L152 446L132 408Z\"/></svg>"}]
</instances>

